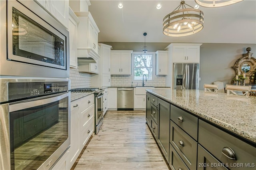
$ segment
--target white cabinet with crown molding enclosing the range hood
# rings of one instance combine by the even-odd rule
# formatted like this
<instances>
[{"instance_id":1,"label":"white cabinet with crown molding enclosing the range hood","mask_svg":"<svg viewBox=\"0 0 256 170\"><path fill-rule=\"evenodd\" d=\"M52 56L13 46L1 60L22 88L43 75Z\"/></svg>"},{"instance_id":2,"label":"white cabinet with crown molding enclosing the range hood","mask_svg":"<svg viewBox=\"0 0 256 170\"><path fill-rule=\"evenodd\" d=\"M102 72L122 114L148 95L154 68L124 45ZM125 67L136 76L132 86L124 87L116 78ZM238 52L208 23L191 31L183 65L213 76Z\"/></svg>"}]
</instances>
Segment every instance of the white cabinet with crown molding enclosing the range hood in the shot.
<instances>
[{"instance_id":1,"label":"white cabinet with crown molding enclosing the range hood","mask_svg":"<svg viewBox=\"0 0 256 170\"><path fill-rule=\"evenodd\" d=\"M90 48L98 54L98 33L100 30L96 25L90 12L75 12L80 20L78 25L78 50Z\"/></svg>"}]
</instances>

